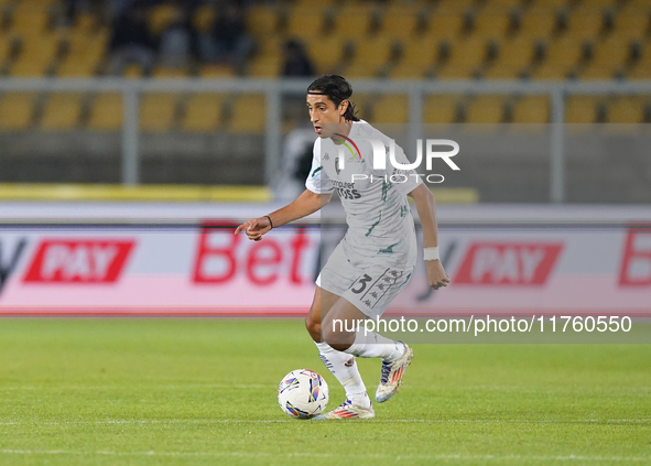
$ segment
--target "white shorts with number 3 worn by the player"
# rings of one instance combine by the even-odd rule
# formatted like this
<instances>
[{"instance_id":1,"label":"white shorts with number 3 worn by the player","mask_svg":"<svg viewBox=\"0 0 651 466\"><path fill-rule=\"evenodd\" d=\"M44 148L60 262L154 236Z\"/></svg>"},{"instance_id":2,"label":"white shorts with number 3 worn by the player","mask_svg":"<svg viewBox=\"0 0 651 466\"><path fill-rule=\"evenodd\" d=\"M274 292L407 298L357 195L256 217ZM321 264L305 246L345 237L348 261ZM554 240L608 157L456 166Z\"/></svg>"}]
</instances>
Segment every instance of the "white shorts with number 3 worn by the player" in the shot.
<instances>
[{"instance_id":1,"label":"white shorts with number 3 worn by the player","mask_svg":"<svg viewBox=\"0 0 651 466\"><path fill-rule=\"evenodd\" d=\"M409 282L414 267L400 270L346 257L339 243L316 278L316 285L346 299L367 317L380 317Z\"/></svg>"}]
</instances>

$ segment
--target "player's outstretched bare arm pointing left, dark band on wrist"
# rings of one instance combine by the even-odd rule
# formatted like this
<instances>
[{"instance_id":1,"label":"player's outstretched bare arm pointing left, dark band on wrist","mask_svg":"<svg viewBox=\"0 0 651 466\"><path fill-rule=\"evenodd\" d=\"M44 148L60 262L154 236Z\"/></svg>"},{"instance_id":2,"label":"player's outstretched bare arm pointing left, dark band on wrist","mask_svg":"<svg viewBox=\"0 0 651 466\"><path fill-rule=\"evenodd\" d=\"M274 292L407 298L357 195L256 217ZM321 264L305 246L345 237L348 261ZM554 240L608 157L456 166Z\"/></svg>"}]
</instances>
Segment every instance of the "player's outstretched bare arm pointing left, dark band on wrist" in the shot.
<instances>
[{"instance_id":1,"label":"player's outstretched bare arm pointing left, dark band on wrist","mask_svg":"<svg viewBox=\"0 0 651 466\"><path fill-rule=\"evenodd\" d=\"M269 232L272 228L280 227L281 225L289 224L314 214L316 210L325 206L330 202L333 197L332 193L328 194L316 194L310 189L305 189L296 201L286 206L272 212L264 217L253 218L249 221L245 221L242 225L237 227L235 234L238 235L240 231L245 231L249 239L253 241L260 241L262 235Z\"/></svg>"}]
</instances>

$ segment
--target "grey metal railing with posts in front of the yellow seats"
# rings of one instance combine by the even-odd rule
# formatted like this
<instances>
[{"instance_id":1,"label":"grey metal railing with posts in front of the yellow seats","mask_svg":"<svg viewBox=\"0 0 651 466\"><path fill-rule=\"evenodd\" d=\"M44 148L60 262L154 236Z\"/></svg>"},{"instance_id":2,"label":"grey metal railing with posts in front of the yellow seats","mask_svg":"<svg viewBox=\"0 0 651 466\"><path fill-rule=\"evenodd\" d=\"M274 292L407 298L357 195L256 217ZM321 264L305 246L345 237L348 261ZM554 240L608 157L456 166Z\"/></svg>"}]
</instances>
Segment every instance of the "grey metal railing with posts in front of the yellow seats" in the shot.
<instances>
[{"instance_id":1,"label":"grey metal railing with posts in front of the yellow seats","mask_svg":"<svg viewBox=\"0 0 651 466\"><path fill-rule=\"evenodd\" d=\"M0 79L0 93L121 93L124 99L122 127L122 183L135 185L140 174L140 96L145 93L258 93L267 98L265 180L272 180L282 152L282 96L303 95L310 79L122 79L34 78ZM550 201L565 199L565 98L568 95L651 94L651 82L520 82L520 80L351 80L356 93L409 96L408 141L415 144L423 122L423 100L430 94L524 94L551 99ZM408 148L415 153L415 148Z\"/></svg>"}]
</instances>

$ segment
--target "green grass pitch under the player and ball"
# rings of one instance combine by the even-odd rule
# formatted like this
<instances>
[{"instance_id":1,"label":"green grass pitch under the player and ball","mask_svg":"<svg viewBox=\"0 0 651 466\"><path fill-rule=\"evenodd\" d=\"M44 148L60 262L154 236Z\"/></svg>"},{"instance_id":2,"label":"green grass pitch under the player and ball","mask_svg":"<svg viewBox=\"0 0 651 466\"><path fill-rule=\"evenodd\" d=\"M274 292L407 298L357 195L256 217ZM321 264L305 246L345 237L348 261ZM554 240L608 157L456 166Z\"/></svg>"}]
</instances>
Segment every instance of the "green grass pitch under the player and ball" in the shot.
<instances>
[{"instance_id":1,"label":"green grass pitch under the player and ball","mask_svg":"<svg viewBox=\"0 0 651 466\"><path fill-rule=\"evenodd\" d=\"M651 345L414 350L375 420L297 421L290 370L344 401L299 319L1 319L0 464L651 464Z\"/></svg>"}]
</instances>

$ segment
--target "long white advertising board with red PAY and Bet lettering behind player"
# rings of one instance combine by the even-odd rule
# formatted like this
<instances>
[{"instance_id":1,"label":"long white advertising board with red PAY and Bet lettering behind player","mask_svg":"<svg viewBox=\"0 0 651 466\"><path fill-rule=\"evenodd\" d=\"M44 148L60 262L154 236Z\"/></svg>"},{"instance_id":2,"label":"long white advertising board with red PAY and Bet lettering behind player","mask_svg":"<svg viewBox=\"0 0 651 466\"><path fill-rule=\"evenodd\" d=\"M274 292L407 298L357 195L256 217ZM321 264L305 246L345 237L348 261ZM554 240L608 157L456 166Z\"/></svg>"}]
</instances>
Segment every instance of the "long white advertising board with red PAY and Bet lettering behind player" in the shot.
<instances>
[{"instance_id":1,"label":"long white advertising board with red PAY and Bet lettering behind player","mask_svg":"<svg viewBox=\"0 0 651 466\"><path fill-rule=\"evenodd\" d=\"M215 220L0 229L0 314L305 315L345 230L283 226L261 241L234 231ZM433 291L419 259L388 313L651 315L651 227L444 224L440 247L449 286Z\"/></svg>"}]
</instances>

